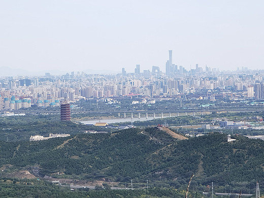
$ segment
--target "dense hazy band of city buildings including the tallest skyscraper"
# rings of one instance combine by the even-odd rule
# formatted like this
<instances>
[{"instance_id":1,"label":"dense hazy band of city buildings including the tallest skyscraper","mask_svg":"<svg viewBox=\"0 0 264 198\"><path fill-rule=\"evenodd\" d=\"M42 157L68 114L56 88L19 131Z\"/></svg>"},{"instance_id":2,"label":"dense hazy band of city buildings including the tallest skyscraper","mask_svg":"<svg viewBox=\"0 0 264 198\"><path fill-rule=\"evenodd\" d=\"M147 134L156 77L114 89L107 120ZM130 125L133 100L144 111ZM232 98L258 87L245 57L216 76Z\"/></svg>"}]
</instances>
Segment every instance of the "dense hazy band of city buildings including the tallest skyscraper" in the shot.
<instances>
[{"instance_id":1,"label":"dense hazy band of city buildings including the tallest skyscraper","mask_svg":"<svg viewBox=\"0 0 264 198\"><path fill-rule=\"evenodd\" d=\"M4 77L0 80L0 110L59 107L66 98L69 102L86 98L121 97L182 97L186 94L211 95L217 98L227 94L234 98L264 99L264 71L246 67L233 72L220 72L205 65L186 70L173 64L172 50L166 62L166 72L153 65L143 70L137 64L135 73L117 75L89 75L84 72L39 77ZM205 97L206 98L206 97Z\"/></svg>"}]
</instances>

